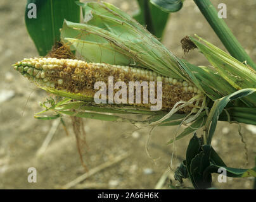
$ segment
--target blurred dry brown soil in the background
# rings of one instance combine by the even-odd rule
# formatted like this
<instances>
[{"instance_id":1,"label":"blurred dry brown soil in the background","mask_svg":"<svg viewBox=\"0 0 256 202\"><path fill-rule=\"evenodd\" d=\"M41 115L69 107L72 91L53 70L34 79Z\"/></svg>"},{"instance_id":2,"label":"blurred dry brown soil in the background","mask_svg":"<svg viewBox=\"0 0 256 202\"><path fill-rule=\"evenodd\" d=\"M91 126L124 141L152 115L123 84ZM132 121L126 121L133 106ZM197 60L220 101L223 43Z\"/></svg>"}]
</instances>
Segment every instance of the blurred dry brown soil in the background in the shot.
<instances>
[{"instance_id":1,"label":"blurred dry brown soil in the background","mask_svg":"<svg viewBox=\"0 0 256 202\"><path fill-rule=\"evenodd\" d=\"M132 14L138 7L136 1L108 1ZM212 0L217 4L227 4L226 22L240 40L243 47L256 61L256 1ZM66 118L67 136L58 126L53 140L41 157L36 153L49 133L52 121L34 119L39 112L39 102L46 100L48 94L35 88L11 68L11 64L23 57L35 57L37 51L24 25L25 0L0 1L0 188L1 189L56 189L84 174L75 136L70 119ZM192 0L184 2L184 8L172 14L165 30L163 44L174 54L184 57L198 65L208 65L207 61L195 50L184 56L180 40L185 35L197 33L215 45L223 48L212 29L196 8ZM3 95L8 97L3 100ZM89 170L101 163L113 160L128 151L131 155L112 167L92 175L80 184L80 188L110 189L153 189L161 175L170 165L172 145L167 145L174 134L175 127L157 128L151 136L149 151L145 150L148 131L143 129L132 133L134 126L125 123L85 120L87 133L86 165ZM249 128L250 129L250 128ZM256 156L255 131L242 127L248 147L249 164L245 165L245 150L238 134L238 126L219 123L213 146L230 167L253 167ZM179 165L191 136L176 142L174 168ZM28 168L37 169L37 183L27 181ZM171 174L171 172L170 172ZM170 176L171 177L171 176ZM163 189L169 188L167 179ZM173 184L176 184L174 182ZM186 186L191 184L186 181ZM253 179L227 179L227 183L217 182L214 186L221 189L250 189Z\"/></svg>"}]
</instances>

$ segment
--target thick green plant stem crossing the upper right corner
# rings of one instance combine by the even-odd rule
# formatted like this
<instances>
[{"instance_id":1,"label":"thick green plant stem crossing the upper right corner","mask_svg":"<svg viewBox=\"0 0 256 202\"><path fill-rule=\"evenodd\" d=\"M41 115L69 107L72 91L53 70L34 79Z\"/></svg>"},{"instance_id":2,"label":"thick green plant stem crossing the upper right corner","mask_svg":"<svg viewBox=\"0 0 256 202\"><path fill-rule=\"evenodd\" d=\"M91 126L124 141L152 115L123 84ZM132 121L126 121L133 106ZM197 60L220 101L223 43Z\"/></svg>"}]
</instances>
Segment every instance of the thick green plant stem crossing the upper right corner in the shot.
<instances>
[{"instance_id":1,"label":"thick green plant stem crossing the upper right corner","mask_svg":"<svg viewBox=\"0 0 256 202\"><path fill-rule=\"evenodd\" d=\"M231 56L235 57L240 62L246 61L247 64L256 70L256 64L245 52L245 49L243 49L236 37L234 37L225 21L222 18L219 18L217 10L214 8L210 0L194 1Z\"/></svg>"}]
</instances>

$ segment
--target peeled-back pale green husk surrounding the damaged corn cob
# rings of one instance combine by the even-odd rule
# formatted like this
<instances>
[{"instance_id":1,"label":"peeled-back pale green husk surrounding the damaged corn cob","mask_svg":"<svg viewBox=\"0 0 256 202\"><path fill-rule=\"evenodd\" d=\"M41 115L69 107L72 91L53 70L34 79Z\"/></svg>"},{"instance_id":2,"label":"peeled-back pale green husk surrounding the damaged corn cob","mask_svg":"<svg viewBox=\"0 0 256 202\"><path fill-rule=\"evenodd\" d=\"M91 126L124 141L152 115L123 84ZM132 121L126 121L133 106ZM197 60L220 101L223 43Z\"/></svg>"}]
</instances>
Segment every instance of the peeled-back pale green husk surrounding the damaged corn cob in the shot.
<instances>
[{"instance_id":1,"label":"peeled-back pale green husk surrounding the damaged corn cob","mask_svg":"<svg viewBox=\"0 0 256 202\"><path fill-rule=\"evenodd\" d=\"M143 113L146 113L150 117L142 122L153 125L155 123L160 126L192 123L177 138L182 138L202 128L206 122L209 125L210 122L217 121L219 118L222 121L232 120L256 124L252 120L252 114L247 119L246 114L241 113L243 111L241 108L245 109L244 111L248 109L255 110L256 105L256 95L253 93L256 85L255 71L246 64L237 61L206 40L200 39L205 42L205 44L202 44L199 40L190 37L214 68L195 66L184 59L176 57L143 26L112 4L86 3L82 4L82 9L84 10L84 23L73 23L66 20L61 28L61 40L63 43L70 45L71 50L77 52L79 59L87 62L150 69L162 76L187 81L203 93L204 96L200 99L201 105L196 106L194 115L191 112L191 114L175 116L176 109L171 110L171 112L151 112L148 109L143 109L143 107L122 105L98 105L96 107L89 100L87 104L76 102L75 105L70 103L70 100L65 100L61 104L51 104L51 107L48 107L46 111L53 109L57 114L90 117L105 121L129 122L134 122L134 119L111 114L99 116L98 114L118 114L120 112L120 114L143 115ZM60 92L47 86L41 86L41 88L57 95L75 97L79 100L79 96L76 97L74 93L71 93L71 95L68 92ZM248 88L250 89L248 90ZM238 90L240 92L235 95L236 98L229 99L229 96ZM239 116L224 116L224 107L218 110L219 104L222 104L223 97L226 97L227 100L224 105L227 111L232 109L234 114L240 114ZM208 111L214 102L216 104L211 114L215 114L214 112L217 110L217 116L208 117ZM182 102L177 102L177 108L179 104L182 104ZM87 108L83 108L85 105ZM77 112L74 112L74 108L89 112L79 111L79 114L77 114ZM241 116L243 116L243 119L241 119ZM42 116L37 117L44 119ZM57 118L58 115L52 117ZM139 122L139 120L137 121ZM211 129L211 131L214 131L214 129Z\"/></svg>"}]
</instances>

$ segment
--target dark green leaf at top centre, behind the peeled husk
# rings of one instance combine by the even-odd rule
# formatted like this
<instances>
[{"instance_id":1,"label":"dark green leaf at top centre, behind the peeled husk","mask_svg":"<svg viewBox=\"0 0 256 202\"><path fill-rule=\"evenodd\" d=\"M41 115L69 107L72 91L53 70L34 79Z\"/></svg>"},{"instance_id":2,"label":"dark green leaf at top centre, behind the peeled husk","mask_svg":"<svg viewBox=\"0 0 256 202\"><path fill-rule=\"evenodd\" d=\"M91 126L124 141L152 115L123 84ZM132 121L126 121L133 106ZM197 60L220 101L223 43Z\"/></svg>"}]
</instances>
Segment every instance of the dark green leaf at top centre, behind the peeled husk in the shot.
<instances>
[{"instance_id":1,"label":"dark green leaf at top centre, behind the peeled husk","mask_svg":"<svg viewBox=\"0 0 256 202\"><path fill-rule=\"evenodd\" d=\"M162 39L165 25L169 18L169 13L162 11L157 6L151 4L148 0L137 0L139 11L134 15L134 19L153 33L159 39Z\"/></svg>"}]
</instances>

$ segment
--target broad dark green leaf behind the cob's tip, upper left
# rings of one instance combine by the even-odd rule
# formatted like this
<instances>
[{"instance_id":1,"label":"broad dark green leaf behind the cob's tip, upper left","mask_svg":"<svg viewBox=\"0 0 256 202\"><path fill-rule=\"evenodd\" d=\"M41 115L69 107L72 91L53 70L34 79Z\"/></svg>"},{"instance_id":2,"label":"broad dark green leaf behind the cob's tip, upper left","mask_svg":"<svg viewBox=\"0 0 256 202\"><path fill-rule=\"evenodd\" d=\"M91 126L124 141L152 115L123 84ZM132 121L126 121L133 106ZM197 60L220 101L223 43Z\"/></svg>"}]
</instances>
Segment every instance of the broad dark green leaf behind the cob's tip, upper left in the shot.
<instances>
[{"instance_id":1,"label":"broad dark green leaf behind the cob's tip, upper left","mask_svg":"<svg viewBox=\"0 0 256 202\"><path fill-rule=\"evenodd\" d=\"M34 41L39 56L46 56L53 45L60 41L60 28L63 20L80 21L80 8L77 0L28 0L25 10L25 24ZM36 5L36 18L29 18L28 5Z\"/></svg>"}]
</instances>

